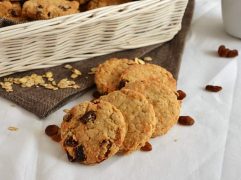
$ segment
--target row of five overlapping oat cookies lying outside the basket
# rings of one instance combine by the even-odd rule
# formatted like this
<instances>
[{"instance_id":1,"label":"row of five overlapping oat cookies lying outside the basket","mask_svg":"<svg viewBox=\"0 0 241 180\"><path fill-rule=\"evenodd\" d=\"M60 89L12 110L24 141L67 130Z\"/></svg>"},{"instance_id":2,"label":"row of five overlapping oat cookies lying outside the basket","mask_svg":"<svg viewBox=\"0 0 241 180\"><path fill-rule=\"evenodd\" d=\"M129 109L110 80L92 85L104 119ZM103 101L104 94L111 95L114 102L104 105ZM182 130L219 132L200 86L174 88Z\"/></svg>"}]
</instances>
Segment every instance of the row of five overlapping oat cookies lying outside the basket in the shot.
<instances>
[{"instance_id":1,"label":"row of five overlapping oat cookies lying outside the basket","mask_svg":"<svg viewBox=\"0 0 241 180\"><path fill-rule=\"evenodd\" d=\"M110 59L98 66L95 82L104 95L73 107L61 124L70 161L95 164L131 153L178 121L176 80L160 66Z\"/></svg>"}]
</instances>

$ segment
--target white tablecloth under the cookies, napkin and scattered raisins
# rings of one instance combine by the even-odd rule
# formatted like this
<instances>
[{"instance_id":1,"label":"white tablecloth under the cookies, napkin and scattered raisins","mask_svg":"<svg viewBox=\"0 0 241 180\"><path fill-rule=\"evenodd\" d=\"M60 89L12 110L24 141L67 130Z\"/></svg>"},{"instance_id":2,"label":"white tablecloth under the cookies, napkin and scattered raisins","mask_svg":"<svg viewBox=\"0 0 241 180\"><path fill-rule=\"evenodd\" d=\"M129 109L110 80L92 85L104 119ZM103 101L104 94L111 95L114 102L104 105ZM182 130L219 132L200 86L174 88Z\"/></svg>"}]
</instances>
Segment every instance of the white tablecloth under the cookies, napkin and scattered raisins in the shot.
<instances>
[{"instance_id":1,"label":"white tablecloth under the cookies, napkin and scattered raisins","mask_svg":"<svg viewBox=\"0 0 241 180\"><path fill-rule=\"evenodd\" d=\"M194 126L176 125L151 140L151 152L83 166L68 162L44 129L60 124L63 109L89 100L91 92L44 121L0 98L0 179L241 179L241 56L225 59L215 53L220 44L241 52L241 40L224 32L220 0L197 0L195 6L178 80L178 89L187 93L182 114L194 117ZM223 91L206 92L207 84L221 85ZM19 130L9 131L9 126Z\"/></svg>"}]
</instances>

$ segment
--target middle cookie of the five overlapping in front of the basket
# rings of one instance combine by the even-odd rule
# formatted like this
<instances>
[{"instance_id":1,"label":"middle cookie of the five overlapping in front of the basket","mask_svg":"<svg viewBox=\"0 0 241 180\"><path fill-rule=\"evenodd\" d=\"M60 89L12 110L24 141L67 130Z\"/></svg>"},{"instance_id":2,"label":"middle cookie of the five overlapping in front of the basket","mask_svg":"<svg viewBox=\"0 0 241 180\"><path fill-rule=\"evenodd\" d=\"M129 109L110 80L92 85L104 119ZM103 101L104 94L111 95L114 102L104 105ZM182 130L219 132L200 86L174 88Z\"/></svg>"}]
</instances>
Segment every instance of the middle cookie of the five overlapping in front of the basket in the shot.
<instances>
[{"instance_id":1,"label":"middle cookie of the five overlapping in front of the basket","mask_svg":"<svg viewBox=\"0 0 241 180\"><path fill-rule=\"evenodd\" d=\"M180 101L175 91L159 81L146 79L127 83L123 89L131 89L142 93L153 105L157 124L152 137L164 135L177 123L180 114Z\"/></svg>"}]
</instances>

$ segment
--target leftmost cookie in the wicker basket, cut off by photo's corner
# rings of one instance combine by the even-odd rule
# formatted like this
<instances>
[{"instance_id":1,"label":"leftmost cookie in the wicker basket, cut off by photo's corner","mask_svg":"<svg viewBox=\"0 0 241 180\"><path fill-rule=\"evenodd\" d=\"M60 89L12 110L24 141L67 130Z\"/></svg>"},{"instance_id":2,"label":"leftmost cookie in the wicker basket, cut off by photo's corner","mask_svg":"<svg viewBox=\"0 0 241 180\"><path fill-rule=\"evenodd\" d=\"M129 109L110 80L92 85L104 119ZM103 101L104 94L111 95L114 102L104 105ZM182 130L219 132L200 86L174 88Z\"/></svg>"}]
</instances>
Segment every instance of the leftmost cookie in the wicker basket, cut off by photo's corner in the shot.
<instances>
[{"instance_id":1,"label":"leftmost cookie in the wicker basket, cut off by photo's corner","mask_svg":"<svg viewBox=\"0 0 241 180\"><path fill-rule=\"evenodd\" d=\"M0 1L0 18L15 22L23 21L21 4L7 0Z\"/></svg>"}]
</instances>

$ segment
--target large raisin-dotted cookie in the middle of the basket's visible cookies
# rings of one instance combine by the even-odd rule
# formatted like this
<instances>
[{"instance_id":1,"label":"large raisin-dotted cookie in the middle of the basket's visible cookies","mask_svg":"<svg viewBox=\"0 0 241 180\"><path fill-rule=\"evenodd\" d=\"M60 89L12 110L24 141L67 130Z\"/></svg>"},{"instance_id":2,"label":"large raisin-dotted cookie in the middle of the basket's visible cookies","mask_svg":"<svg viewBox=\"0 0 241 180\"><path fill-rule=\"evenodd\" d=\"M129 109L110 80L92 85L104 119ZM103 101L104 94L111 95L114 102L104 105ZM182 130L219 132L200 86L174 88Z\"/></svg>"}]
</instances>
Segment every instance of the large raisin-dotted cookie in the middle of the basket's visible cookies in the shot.
<instances>
[{"instance_id":1,"label":"large raisin-dotted cookie in the middle of the basket's visible cookies","mask_svg":"<svg viewBox=\"0 0 241 180\"><path fill-rule=\"evenodd\" d=\"M23 5L23 16L28 19L51 19L79 12L79 2L67 0L28 0Z\"/></svg>"}]
</instances>

